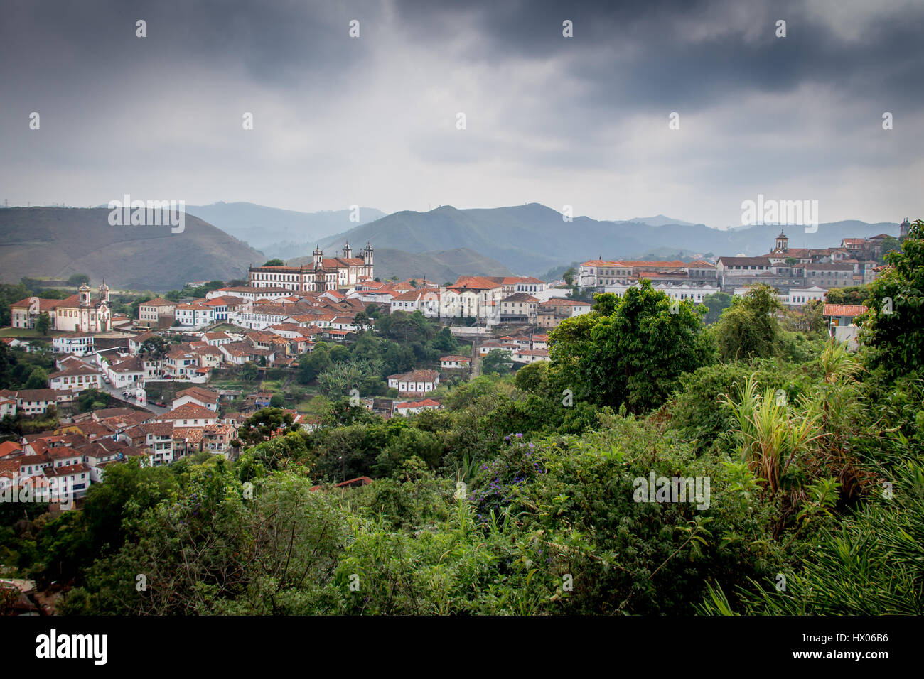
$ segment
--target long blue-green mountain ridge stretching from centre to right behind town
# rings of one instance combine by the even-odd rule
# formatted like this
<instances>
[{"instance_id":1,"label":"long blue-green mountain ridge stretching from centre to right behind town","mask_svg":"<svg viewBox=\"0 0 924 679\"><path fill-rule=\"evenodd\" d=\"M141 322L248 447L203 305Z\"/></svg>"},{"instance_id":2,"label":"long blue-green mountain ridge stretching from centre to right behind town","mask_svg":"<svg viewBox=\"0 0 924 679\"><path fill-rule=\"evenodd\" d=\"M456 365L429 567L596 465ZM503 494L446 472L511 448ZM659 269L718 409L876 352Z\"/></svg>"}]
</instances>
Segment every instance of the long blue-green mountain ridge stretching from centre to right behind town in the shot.
<instances>
[{"instance_id":1,"label":"long blue-green mountain ridge stretching from centre to right behind town","mask_svg":"<svg viewBox=\"0 0 924 679\"><path fill-rule=\"evenodd\" d=\"M826 248L839 245L843 237L897 236L898 224L845 221L820 224L813 234L805 233L801 226L786 226L784 230L793 248ZM569 261L638 259L652 251L755 256L770 251L779 233L779 226L770 225L723 231L704 224L617 224L588 217L564 222L560 212L529 203L478 210L444 206L430 212L395 212L326 238L321 246L339 249L348 238L357 247L368 240L376 249L410 253L467 248L516 273L539 275Z\"/></svg>"}]
</instances>

